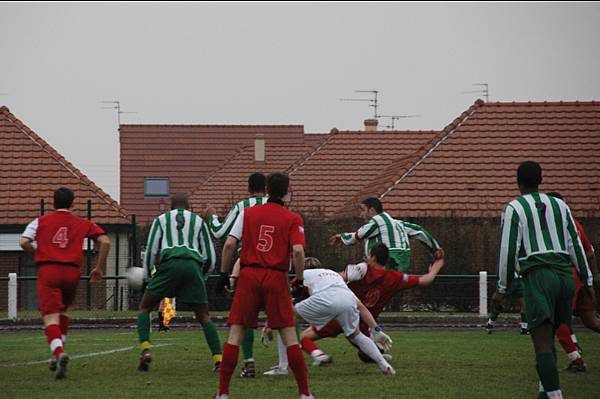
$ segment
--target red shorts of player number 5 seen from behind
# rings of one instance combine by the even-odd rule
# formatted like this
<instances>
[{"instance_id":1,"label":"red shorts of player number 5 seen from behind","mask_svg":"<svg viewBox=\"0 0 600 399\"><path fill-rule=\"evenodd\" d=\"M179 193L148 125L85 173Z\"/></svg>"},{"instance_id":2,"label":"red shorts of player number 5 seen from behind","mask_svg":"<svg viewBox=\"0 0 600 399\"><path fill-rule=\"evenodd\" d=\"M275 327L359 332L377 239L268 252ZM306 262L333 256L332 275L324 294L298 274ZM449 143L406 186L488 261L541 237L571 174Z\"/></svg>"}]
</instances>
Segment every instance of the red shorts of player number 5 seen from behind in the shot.
<instances>
[{"instance_id":1,"label":"red shorts of player number 5 seen from behind","mask_svg":"<svg viewBox=\"0 0 600 399\"><path fill-rule=\"evenodd\" d=\"M287 273L261 267L243 267L227 323L257 328L258 311L262 306L272 329L296 325Z\"/></svg>"}]
</instances>

